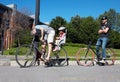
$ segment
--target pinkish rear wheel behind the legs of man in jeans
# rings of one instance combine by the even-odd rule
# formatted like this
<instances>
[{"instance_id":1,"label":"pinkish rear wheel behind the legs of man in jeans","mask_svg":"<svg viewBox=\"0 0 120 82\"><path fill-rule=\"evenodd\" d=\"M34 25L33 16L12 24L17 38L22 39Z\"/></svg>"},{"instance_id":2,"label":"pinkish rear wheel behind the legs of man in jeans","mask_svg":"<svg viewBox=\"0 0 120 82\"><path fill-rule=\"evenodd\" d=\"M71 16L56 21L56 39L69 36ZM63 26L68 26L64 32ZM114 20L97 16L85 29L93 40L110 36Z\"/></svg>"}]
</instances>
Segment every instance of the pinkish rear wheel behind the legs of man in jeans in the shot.
<instances>
[{"instance_id":1,"label":"pinkish rear wheel behind the legs of man in jeans","mask_svg":"<svg viewBox=\"0 0 120 82\"><path fill-rule=\"evenodd\" d=\"M115 52L112 48L106 49L106 58L107 58L107 65L114 65L115 64Z\"/></svg>"}]
</instances>

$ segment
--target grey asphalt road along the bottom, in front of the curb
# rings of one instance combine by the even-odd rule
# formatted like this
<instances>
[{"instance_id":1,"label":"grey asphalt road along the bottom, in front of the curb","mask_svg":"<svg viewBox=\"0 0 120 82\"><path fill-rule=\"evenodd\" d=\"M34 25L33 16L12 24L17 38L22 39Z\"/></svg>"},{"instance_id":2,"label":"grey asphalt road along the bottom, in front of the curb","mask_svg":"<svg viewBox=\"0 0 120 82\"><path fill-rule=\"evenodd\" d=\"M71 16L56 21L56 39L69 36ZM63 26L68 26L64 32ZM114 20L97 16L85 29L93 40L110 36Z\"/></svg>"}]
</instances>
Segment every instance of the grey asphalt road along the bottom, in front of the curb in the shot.
<instances>
[{"instance_id":1,"label":"grey asphalt road along the bottom, in front of the curb","mask_svg":"<svg viewBox=\"0 0 120 82\"><path fill-rule=\"evenodd\" d=\"M0 82L120 82L120 64L90 67L0 66Z\"/></svg>"}]
</instances>

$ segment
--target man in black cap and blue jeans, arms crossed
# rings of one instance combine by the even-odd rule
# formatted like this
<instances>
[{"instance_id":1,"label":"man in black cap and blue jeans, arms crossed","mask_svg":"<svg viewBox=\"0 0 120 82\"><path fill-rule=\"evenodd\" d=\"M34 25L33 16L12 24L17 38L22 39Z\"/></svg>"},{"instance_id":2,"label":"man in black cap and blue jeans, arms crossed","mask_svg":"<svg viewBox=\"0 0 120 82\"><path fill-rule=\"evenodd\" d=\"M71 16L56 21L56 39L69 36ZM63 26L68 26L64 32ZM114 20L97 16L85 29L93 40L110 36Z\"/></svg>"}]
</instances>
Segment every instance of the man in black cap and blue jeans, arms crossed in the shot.
<instances>
[{"instance_id":1,"label":"man in black cap and blue jeans, arms crossed","mask_svg":"<svg viewBox=\"0 0 120 82\"><path fill-rule=\"evenodd\" d=\"M99 38L96 43L96 53L98 57L98 61L101 63L106 63L106 45L108 42L108 34L111 26L108 23L108 17L103 16L101 19L101 27L98 30ZM99 47L102 45L102 60L100 60L100 53L99 53Z\"/></svg>"}]
</instances>

